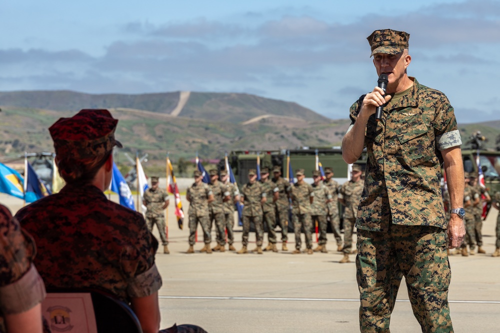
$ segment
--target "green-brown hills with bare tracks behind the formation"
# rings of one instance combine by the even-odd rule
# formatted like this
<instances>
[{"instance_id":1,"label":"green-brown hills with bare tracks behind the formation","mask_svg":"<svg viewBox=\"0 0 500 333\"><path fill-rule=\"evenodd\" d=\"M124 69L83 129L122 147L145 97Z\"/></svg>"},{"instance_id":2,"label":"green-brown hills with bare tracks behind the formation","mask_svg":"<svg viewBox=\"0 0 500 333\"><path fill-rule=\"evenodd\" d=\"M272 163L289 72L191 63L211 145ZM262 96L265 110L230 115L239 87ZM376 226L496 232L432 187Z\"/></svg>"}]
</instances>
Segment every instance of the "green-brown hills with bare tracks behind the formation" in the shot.
<instances>
[{"instance_id":1,"label":"green-brown hills with bare tracks behind the formation","mask_svg":"<svg viewBox=\"0 0 500 333\"><path fill-rule=\"evenodd\" d=\"M296 103L236 93L169 92L92 95L71 91L0 92L0 155L52 152L48 127L82 108L107 108L119 119L116 137L128 153L148 154L148 164L223 158L232 150L282 150L339 146L350 121L332 120ZM500 120L459 124L462 141L476 131L494 149ZM464 145L463 147L466 147Z\"/></svg>"}]
</instances>

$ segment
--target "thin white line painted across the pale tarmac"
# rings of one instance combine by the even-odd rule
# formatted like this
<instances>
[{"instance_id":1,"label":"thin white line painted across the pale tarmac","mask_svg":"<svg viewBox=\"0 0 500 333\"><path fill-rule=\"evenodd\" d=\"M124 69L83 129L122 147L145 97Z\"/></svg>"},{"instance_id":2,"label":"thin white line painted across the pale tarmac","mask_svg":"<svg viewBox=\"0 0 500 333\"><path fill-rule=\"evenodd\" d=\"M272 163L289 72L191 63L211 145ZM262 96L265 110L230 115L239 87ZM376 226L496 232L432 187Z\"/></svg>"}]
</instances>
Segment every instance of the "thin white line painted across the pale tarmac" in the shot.
<instances>
[{"instance_id":1,"label":"thin white line painted across the pale tarmac","mask_svg":"<svg viewBox=\"0 0 500 333\"><path fill-rule=\"evenodd\" d=\"M321 299L321 298L293 298L293 297L240 297L240 296L158 296L159 299L170 300L239 300L239 301L311 301L311 302L359 302L358 299ZM409 302L409 300L396 300ZM448 303L464 304L500 304L500 301L450 301Z\"/></svg>"}]
</instances>

